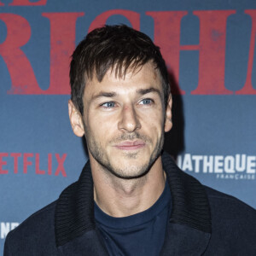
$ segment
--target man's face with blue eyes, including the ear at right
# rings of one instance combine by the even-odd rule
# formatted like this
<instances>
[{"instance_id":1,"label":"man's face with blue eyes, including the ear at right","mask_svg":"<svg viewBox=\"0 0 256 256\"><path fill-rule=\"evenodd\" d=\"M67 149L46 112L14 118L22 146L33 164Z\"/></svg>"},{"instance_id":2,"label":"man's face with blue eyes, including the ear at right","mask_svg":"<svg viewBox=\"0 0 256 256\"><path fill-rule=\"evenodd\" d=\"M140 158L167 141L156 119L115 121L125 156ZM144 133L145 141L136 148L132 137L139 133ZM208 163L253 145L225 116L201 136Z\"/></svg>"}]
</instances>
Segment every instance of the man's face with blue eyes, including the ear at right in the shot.
<instances>
[{"instance_id":1,"label":"man's face with blue eyes, including the ear at right","mask_svg":"<svg viewBox=\"0 0 256 256\"><path fill-rule=\"evenodd\" d=\"M90 161L116 177L140 177L160 156L164 131L172 128L159 72L151 62L125 79L106 73L84 90L84 135ZM171 100L170 100L171 101Z\"/></svg>"}]
</instances>

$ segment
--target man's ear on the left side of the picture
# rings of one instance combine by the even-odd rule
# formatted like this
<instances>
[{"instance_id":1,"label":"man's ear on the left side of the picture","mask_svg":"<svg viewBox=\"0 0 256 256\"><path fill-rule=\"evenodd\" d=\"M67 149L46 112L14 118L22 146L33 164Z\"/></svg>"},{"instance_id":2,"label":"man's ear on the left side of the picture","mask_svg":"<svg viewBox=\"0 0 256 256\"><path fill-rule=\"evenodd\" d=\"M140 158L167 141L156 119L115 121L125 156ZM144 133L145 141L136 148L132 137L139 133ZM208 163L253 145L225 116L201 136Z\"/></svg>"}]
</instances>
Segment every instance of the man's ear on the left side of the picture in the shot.
<instances>
[{"instance_id":1,"label":"man's ear on the left side of the picture","mask_svg":"<svg viewBox=\"0 0 256 256\"><path fill-rule=\"evenodd\" d=\"M78 137L84 136L84 124L82 115L74 106L71 100L68 101L68 115L72 126L73 133Z\"/></svg>"}]
</instances>

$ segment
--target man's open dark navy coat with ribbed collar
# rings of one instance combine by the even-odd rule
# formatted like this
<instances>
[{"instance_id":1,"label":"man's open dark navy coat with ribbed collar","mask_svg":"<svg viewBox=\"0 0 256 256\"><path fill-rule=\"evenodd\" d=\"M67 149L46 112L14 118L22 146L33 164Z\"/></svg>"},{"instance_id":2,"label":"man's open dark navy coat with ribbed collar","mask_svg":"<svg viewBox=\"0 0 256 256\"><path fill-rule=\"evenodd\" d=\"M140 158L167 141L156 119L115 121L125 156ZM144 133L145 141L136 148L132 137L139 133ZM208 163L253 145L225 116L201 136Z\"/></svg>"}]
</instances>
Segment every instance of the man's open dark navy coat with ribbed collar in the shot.
<instances>
[{"instance_id":1,"label":"man's open dark navy coat with ribbed collar","mask_svg":"<svg viewBox=\"0 0 256 256\"><path fill-rule=\"evenodd\" d=\"M168 154L162 155L162 161L172 212L160 255L256 255L256 211L201 185L179 170ZM9 232L4 256L107 256L93 207L88 162L79 181L67 187L57 201Z\"/></svg>"}]
</instances>

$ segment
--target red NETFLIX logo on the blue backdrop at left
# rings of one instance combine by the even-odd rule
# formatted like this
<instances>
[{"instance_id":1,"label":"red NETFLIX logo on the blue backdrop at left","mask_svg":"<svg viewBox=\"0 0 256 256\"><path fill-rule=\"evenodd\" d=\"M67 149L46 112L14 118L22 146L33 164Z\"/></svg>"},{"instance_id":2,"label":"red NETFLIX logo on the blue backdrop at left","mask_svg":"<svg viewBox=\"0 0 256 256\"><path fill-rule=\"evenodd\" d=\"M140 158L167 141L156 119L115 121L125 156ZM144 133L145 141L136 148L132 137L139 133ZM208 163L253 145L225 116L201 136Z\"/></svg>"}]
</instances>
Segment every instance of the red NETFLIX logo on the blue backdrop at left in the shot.
<instances>
[{"instance_id":1,"label":"red NETFLIX logo on the blue backdrop at left","mask_svg":"<svg viewBox=\"0 0 256 256\"><path fill-rule=\"evenodd\" d=\"M67 177L64 167L67 154L51 154L47 157L40 157L38 153L0 153L0 175L17 173L35 173L38 175L55 175ZM42 160L44 159L44 160ZM56 168L53 168L53 160L56 162ZM44 162L43 162L44 161ZM42 168L41 166L47 166ZM8 169L7 166L12 166Z\"/></svg>"}]
</instances>

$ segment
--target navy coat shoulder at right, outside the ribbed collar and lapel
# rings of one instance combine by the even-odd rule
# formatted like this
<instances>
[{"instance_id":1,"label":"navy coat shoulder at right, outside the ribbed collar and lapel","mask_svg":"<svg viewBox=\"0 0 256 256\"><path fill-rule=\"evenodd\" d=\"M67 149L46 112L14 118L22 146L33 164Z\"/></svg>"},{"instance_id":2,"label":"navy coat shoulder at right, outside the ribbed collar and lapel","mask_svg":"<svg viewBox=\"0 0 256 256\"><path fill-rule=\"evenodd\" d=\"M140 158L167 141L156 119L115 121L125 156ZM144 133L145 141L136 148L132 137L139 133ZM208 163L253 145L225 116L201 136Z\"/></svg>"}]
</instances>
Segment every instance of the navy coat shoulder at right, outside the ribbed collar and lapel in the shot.
<instances>
[{"instance_id":1,"label":"navy coat shoulder at right, outside the ribbed collar and lapel","mask_svg":"<svg viewBox=\"0 0 256 256\"><path fill-rule=\"evenodd\" d=\"M234 196L205 188L212 218L209 255L256 255L256 210Z\"/></svg>"}]
</instances>

